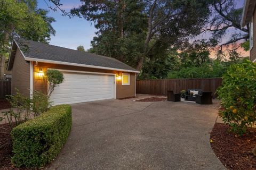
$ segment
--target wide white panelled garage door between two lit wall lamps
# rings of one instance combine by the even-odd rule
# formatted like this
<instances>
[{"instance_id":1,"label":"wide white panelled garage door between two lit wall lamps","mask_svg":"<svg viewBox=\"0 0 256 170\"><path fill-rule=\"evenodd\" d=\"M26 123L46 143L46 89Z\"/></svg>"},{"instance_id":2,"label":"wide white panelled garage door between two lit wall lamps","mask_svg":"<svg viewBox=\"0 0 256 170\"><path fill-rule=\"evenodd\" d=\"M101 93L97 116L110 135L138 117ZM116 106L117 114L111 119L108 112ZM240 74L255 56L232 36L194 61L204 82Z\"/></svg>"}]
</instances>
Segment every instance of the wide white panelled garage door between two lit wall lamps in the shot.
<instances>
[{"instance_id":1,"label":"wide white panelled garage door between two lit wall lamps","mask_svg":"<svg viewBox=\"0 0 256 170\"><path fill-rule=\"evenodd\" d=\"M63 72L65 80L51 95L54 105L115 98L114 75Z\"/></svg>"}]
</instances>

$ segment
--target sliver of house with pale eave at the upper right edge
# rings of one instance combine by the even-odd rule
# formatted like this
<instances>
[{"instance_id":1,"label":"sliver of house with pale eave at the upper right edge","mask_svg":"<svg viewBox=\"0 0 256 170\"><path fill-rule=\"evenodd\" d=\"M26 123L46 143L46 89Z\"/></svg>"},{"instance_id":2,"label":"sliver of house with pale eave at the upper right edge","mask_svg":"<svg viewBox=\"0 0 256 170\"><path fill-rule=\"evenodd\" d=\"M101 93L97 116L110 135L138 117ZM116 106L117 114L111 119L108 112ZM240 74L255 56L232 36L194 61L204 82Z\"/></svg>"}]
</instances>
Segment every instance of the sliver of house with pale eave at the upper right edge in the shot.
<instances>
[{"instance_id":1,"label":"sliver of house with pale eave at the upper right edge","mask_svg":"<svg viewBox=\"0 0 256 170\"><path fill-rule=\"evenodd\" d=\"M250 60L256 62L256 13L255 0L245 0L241 26L249 27L250 30Z\"/></svg>"}]
</instances>

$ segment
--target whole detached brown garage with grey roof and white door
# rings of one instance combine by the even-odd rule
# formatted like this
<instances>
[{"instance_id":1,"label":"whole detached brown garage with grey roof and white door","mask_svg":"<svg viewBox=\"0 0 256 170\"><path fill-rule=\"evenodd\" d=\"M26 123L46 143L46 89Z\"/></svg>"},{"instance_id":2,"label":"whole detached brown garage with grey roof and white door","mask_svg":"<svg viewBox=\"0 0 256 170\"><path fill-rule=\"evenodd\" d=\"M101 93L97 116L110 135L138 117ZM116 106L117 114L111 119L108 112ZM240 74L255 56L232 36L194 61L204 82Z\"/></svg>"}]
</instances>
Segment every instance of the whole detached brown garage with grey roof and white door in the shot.
<instances>
[{"instance_id":1,"label":"whole detached brown garage with grey roof and white door","mask_svg":"<svg viewBox=\"0 0 256 170\"><path fill-rule=\"evenodd\" d=\"M26 96L34 90L47 94L43 79L47 69L57 69L65 78L51 95L54 105L135 96L135 77L139 73L115 58L13 40L7 67L12 71L13 94L15 88Z\"/></svg>"}]
</instances>

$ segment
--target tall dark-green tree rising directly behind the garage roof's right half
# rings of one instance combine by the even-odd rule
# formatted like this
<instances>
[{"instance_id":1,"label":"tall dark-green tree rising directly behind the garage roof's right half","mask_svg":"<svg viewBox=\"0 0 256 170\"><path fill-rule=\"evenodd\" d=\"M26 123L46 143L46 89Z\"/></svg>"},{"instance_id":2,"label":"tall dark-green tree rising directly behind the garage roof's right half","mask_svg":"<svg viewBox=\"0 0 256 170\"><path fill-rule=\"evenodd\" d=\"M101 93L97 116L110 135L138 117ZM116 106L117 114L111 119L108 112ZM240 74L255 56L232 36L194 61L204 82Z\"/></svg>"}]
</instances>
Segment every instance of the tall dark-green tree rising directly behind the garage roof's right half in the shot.
<instances>
[{"instance_id":1,"label":"tall dark-green tree rising directly behind the garage roof's right half","mask_svg":"<svg viewBox=\"0 0 256 170\"><path fill-rule=\"evenodd\" d=\"M197 0L81 2L71 13L94 22L99 29L90 51L115 57L138 70L154 53L155 46L178 46L188 36L200 33L209 15L209 4ZM130 53L127 50L130 46L138 50Z\"/></svg>"}]
</instances>

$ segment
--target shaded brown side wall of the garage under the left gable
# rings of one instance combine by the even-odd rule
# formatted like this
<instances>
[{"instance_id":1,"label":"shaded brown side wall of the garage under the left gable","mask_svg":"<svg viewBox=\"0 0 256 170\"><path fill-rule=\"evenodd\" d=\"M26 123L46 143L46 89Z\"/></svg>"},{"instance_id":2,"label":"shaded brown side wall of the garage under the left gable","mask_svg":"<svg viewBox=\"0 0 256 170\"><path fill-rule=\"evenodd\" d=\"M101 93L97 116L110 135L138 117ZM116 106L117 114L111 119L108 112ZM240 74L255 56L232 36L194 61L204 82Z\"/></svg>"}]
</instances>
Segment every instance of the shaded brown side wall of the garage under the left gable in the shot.
<instances>
[{"instance_id":1,"label":"shaded brown side wall of the garage under the left gable","mask_svg":"<svg viewBox=\"0 0 256 170\"><path fill-rule=\"evenodd\" d=\"M16 94L15 88L29 97L29 63L25 61L19 49L15 54L12 67L12 95Z\"/></svg>"}]
</instances>

